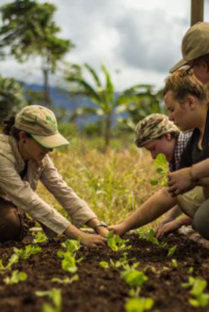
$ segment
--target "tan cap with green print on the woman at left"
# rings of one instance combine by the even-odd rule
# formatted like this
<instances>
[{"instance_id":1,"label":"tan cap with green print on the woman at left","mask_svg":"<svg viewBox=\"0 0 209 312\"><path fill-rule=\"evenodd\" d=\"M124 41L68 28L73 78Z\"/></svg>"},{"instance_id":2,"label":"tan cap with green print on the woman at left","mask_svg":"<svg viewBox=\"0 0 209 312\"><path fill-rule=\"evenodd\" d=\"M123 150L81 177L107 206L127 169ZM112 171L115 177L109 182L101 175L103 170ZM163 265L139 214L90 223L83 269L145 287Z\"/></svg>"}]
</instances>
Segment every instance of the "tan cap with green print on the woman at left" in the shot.
<instances>
[{"instance_id":1,"label":"tan cap with green print on the woman at left","mask_svg":"<svg viewBox=\"0 0 209 312\"><path fill-rule=\"evenodd\" d=\"M14 126L30 133L32 138L44 148L58 148L69 143L59 133L56 117L47 107L40 105L24 107L17 114Z\"/></svg>"}]
</instances>

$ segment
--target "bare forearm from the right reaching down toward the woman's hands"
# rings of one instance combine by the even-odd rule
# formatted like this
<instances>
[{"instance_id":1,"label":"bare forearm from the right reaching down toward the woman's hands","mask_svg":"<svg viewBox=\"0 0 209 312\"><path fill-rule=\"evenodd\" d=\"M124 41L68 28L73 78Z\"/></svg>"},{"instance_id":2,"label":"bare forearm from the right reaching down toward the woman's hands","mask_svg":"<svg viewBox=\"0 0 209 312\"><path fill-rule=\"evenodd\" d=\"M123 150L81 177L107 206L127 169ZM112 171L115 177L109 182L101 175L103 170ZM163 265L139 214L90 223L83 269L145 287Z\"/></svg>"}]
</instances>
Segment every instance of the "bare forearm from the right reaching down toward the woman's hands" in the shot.
<instances>
[{"instance_id":1,"label":"bare forearm from the right reaching down toward the woman's hands","mask_svg":"<svg viewBox=\"0 0 209 312\"><path fill-rule=\"evenodd\" d=\"M176 199L169 196L167 188L162 188L151 198L146 200L136 212L133 212L130 217L124 220L122 224L125 232L152 222L157 219L157 217L167 212L176 203Z\"/></svg>"}]
</instances>

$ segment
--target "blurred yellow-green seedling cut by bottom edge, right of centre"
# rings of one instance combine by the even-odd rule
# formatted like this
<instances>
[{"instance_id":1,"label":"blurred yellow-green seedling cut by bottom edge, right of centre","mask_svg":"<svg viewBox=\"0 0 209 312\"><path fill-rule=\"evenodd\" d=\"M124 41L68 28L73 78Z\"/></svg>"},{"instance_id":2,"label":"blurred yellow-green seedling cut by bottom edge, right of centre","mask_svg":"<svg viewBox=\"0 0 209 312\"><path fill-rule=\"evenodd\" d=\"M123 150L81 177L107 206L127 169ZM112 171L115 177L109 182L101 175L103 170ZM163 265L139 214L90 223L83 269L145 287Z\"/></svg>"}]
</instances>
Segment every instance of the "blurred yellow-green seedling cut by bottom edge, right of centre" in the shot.
<instances>
[{"instance_id":1,"label":"blurred yellow-green seedling cut by bottom edge, right of centre","mask_svg":"<svg viewBox=\"0 0 209 312\"><path fill-rule=\"evenodd\" d=\"M152 298L133 298L126 301L126 312L144 312L153 308L154 301Z\"/></svg>"}]
</instances>

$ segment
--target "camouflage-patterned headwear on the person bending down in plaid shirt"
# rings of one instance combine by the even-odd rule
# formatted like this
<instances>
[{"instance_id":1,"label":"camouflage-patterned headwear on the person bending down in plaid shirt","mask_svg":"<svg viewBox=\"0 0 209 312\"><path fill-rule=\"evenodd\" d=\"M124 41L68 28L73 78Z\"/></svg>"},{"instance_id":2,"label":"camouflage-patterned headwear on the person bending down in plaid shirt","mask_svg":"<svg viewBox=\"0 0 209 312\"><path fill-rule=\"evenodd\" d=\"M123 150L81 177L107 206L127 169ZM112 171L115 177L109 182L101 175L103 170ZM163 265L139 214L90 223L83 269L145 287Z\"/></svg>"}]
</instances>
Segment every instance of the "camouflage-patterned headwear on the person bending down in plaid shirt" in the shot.
<instances>
[{"instance_id":1,"label":"camouflage-patterned headwear on the person bending down in plaid shirt","mask_svg":"<svg viewBox=\"0 0 209 312\"><path fill-rule=\"evenodd\" d=\"M166 133L179 133L179 128L162 114L151 114L136 126L135 143L141 148L145 143L156 140Z\"/></svg>"}]
</instances>

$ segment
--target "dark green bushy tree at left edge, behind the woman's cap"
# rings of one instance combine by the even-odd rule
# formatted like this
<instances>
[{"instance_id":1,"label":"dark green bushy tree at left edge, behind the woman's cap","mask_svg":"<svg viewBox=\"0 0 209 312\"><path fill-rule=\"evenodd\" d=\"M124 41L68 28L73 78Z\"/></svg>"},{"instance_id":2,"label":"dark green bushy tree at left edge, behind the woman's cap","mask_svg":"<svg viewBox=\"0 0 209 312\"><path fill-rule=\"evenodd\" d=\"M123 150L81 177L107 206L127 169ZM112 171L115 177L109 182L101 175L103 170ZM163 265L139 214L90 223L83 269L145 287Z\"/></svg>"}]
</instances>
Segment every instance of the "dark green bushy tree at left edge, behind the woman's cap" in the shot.
<instances>
[{"instance_id":1,"label":"dark green bushy tree at left edge, behind the woman's cap","mask_svg":"<svg viewBox=\"0 0 209 312\"><path fill-rule=\"evenodd\" d=\"M16 114L25 104L22 85L13 78L0 75L0 123L11 114Z\"/></svg>"}]
</instances>

